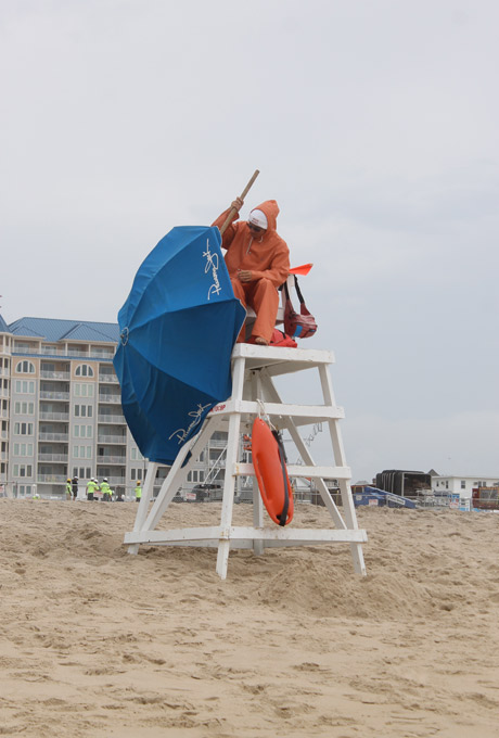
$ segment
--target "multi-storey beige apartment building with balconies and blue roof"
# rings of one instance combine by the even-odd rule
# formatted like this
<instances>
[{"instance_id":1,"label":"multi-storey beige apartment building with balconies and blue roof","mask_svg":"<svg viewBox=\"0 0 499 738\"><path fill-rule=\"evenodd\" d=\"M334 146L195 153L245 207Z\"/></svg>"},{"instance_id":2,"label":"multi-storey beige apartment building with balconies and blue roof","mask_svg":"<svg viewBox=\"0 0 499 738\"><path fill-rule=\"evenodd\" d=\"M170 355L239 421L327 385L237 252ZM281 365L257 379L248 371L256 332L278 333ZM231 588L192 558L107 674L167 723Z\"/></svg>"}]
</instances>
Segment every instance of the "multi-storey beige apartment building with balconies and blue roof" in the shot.
<instances>
[{"instance_id":1,"label":"multi-storey beige apartment building with balconies and blue roof","mask_svg":"<svg viewBox=\"0 0 499 738\"><path fill-rule=\"evenodd\" d=\"M81 494L91 476L131 495L146 460L128 430L113 356L118 326L0 317L0 485L16 497ZM1 488L1 486L0 486Z\"/></svg>"}]
</instances>

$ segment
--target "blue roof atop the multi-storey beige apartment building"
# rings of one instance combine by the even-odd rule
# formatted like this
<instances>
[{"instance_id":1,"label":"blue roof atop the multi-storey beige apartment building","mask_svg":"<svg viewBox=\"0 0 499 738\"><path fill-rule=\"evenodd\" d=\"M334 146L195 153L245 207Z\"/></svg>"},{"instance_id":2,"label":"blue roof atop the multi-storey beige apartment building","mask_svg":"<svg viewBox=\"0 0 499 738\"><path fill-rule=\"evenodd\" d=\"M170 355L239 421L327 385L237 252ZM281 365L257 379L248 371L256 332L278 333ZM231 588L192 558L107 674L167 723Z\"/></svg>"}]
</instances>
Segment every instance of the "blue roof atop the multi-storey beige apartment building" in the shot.
<instances>
[{"instance_id":1,"label":"blue roof atop the multi-storey beige apartment building","mask_svg":"<svg viewBox=\"0 0 499 738\"><path fill-rule=\"evenodd\" d=\"M5 328L8 332L14 335L30 335L50 342L102 341L104 343L118 343L119 341L118 323L59 320L55 318L20 318Z\"/></svg>"}]
</instances>

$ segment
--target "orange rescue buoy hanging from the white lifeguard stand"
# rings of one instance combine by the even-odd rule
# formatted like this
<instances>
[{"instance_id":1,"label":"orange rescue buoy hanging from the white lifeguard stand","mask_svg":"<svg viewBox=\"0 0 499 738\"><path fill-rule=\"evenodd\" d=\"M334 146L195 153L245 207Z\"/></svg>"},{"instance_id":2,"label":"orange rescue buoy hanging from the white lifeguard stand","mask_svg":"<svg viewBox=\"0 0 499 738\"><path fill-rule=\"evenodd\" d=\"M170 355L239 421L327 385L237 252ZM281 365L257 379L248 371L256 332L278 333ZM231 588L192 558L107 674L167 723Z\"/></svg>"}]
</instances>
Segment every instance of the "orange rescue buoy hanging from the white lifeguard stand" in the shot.
<instances>
[{"instance_id":1,"label":"orange rescue buoy hanging from the white lifeguard stand","mask_svg":"<svg viewBox=\"0 0 499 738\"><path fill-rule=\"evenodd\" d=\"M294 505L284 453L261 418L255 418L253 423L252 454L267 512L278 525L287 525L293 520Z\"/></svg>"}]
</instances>

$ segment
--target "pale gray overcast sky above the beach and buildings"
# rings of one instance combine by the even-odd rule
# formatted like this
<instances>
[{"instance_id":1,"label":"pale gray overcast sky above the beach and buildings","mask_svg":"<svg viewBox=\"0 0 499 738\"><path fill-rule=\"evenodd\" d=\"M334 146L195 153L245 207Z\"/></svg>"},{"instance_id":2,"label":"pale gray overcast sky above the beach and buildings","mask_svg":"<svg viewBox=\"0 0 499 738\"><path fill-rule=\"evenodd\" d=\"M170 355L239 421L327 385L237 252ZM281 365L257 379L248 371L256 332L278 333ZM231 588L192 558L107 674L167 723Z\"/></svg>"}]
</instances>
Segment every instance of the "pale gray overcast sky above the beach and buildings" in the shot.
<instances>
[{"instance_id":1,"label":"pale gray overcast sky above the beach and buildings","mask_svg":"<svg viewBox=\"0 0 499 738\"><path fill-rule=\"evenodd\" d=\"M259 168L242 216L274 198L315 264L302 347L335 353L354 479L498 475L498 27L496 0L1 0L1 314L116 320Z\"/></svg>"}]
</instances>

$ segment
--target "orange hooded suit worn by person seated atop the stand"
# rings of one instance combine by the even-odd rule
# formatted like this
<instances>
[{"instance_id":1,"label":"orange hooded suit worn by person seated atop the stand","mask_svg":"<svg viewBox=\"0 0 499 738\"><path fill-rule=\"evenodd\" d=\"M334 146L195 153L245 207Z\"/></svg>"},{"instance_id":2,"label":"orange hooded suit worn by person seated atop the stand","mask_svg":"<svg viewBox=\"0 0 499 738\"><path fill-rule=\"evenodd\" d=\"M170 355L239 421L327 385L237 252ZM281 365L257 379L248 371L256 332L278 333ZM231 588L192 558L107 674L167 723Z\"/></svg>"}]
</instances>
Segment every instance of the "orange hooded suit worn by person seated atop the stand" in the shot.
<instances>
[{"instance_id":1,"label":"orange hooded suit worn by person seated atop the stand","mask_svg":"<svg viewBox=\"0 0 499 738\"><path fill-rule=\"evenodd\" d=\"M234 290L234 295L244 307L250 305L256 313L252 338L270 342L279 308L279 288L285 282L290 271L290 251L286 242L276 230L279 206L276 200L267 200L256 208L267 217L267 230L252 233L247 222L232 221L222 237L222 249L227 249L226 265ZM229 211L222 213L213 224L220 228ZM239 218L236 215L235 220ZM253 281L240 282L238 271L250 270ZM244 326L238 342L244 341Z\"/></svg>"}]
</instances>

